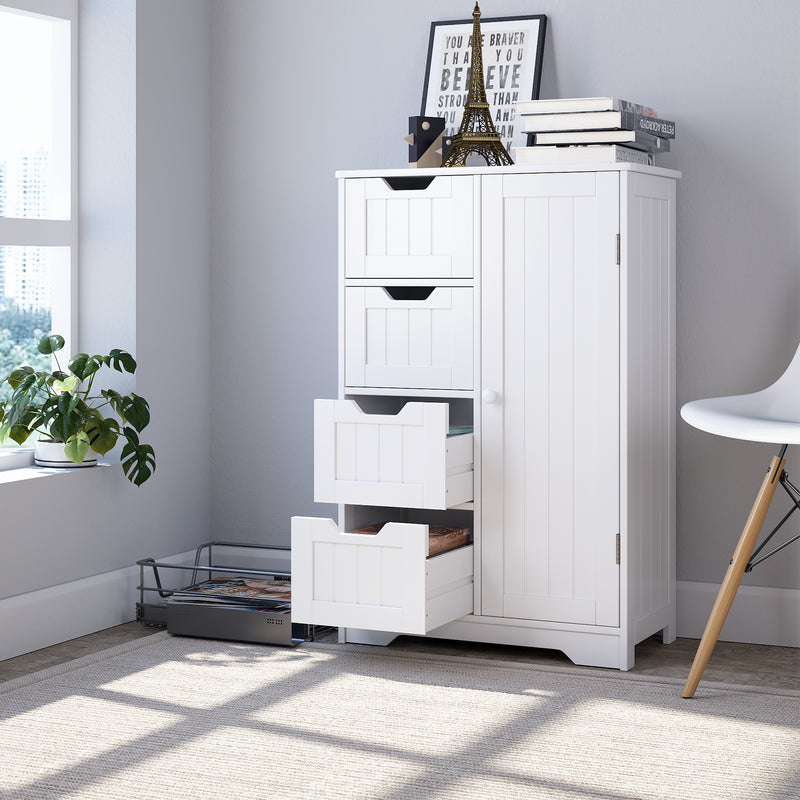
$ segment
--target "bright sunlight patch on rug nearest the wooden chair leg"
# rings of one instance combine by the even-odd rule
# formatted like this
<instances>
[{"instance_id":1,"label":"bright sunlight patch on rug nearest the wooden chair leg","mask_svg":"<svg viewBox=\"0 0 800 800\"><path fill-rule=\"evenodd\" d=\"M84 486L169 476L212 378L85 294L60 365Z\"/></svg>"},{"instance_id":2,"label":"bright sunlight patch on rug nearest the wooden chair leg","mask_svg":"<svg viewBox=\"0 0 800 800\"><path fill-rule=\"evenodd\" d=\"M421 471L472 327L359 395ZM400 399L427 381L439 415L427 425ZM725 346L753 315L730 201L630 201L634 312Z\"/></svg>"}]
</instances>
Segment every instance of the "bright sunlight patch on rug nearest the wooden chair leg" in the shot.
<instances>
[{"instance_id":1,"label":"bright sunlight patch on rug nearest the wooden chair leg","mask_svg":"<svg viewBox=\"0 0 800 800\"><path fill-rule=\"evenodd\" d=\"M743 752L743 743L754 741L771 743L768 766L758 753ZM499 753L492 767L527 781L569 785L581 796L661 797L653 781L668 775L670 791L681 787L706 798L725 796L731 786L785 786L787 776L796 778L798 747L796 728L753 719L744 728L742 719L708 714L697 701L672 710L657 702L582 699ZM697 763L704 768L697 770Z\"/></svg>"}]
</instances>

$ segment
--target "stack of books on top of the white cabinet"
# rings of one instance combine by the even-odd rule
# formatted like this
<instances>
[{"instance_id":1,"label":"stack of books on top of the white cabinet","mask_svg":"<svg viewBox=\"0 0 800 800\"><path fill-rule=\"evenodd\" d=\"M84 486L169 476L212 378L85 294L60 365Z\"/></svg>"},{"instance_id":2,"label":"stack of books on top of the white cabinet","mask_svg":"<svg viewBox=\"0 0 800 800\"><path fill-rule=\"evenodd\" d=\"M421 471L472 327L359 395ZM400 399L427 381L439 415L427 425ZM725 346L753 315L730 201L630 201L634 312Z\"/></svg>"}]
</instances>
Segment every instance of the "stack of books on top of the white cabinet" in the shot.
<instances>
[{"instance_id":1,"label":"stack of books on top of the white cabinet","mask_svg":"<svg viewBox=\"0 0 800 800\"><path fill-rule=\"evenodd\" d=\"M531 146L515 148L517 164L652 164L675 138L674 122L616 97L521 100L517 114L522 130L534 135Z\"/></svg>"}]
</instances>

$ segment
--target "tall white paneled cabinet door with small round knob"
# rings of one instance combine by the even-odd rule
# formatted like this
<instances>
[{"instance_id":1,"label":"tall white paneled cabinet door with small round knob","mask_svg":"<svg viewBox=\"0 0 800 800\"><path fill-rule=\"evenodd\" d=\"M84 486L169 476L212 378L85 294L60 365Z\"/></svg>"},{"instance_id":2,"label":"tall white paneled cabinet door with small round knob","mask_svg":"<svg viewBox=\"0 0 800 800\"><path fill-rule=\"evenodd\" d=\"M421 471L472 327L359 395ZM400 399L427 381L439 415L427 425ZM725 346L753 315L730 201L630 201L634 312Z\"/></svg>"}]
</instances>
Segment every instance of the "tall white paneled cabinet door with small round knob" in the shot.
<instances>
[{"instance_id":1,"label":"tall white paneled cabinet door with small round knob","mask_svg":"<svg viewBox=\"0 0 800 800\"><path fill-rule=\"evenodd\" d=\"M619 176L483 179L482 608L619 624Z\"/></svg>"}]
</instances>

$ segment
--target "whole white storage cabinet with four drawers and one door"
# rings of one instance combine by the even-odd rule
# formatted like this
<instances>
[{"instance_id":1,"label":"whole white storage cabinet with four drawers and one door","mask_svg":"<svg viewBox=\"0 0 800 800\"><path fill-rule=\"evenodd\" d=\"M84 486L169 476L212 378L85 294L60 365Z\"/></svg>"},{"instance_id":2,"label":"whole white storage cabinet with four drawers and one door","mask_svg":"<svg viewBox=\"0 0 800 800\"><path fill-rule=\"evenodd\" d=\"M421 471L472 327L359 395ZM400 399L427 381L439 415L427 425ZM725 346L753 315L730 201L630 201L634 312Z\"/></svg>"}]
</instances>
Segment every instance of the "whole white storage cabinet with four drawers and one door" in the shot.
<instances>
[{"instance_id":1,"label":"whole white storage cabinet with four drawers and one door","mask_svg":"<svg viewBox=\"0 0 800 800\"><path fill-rule=\"evenodd\" d=\"M293 520L298 621L620 669L674 639L678 177L339 176L340 396L317 403L314 483L340 524ZM465 408L474 432L448 436ZM426 514L467 514L474 544L426 559Z\"/></svg>"}]
</instances>

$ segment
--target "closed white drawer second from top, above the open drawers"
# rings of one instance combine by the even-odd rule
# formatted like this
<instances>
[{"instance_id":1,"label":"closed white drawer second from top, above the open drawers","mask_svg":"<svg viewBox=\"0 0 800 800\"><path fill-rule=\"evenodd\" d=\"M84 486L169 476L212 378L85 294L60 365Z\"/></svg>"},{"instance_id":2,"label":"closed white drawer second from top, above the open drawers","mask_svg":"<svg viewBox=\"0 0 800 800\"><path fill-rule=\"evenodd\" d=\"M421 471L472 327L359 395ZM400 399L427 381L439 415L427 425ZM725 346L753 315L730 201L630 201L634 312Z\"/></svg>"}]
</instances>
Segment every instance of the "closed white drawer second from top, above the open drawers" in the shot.
<instances>
[{"instance_id":1,"label":"closed white drawer second from top, above the open drawers","mask_svg":"<svg viewBox=\"0 0 800 800\"><path fill-rule=\"evenodd\" d=\"M472 389L473 289L348 286L345 384Z\"/></svg>"}]
</instances>

